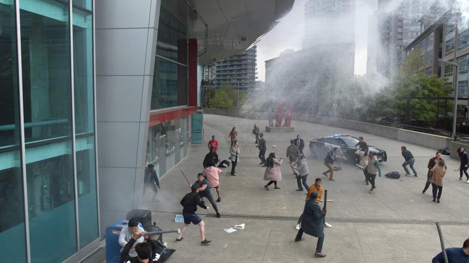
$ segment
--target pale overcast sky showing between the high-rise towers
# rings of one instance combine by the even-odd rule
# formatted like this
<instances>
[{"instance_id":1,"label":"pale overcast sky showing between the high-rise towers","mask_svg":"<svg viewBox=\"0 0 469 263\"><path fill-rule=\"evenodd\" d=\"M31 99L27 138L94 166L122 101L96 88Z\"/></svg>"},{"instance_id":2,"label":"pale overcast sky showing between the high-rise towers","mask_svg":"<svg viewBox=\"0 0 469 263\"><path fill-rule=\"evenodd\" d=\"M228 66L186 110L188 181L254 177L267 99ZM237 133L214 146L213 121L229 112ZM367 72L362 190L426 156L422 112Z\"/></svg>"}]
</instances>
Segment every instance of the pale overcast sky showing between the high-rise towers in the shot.
<instances>
[{"instance_id":1,"label":"pale overcast sky showing between the high-rise towers","mask_svg":"<svg viewBox=\"0 0 469 263\"><path fill-rule=\"evenodd\" d=\"M257 43L257 72L265 81L264 61L277 57L285 49L301 49L304 27L304 4L307 0L295 0L291 11ZM366 73L368 17L377 7L377 0L356 0L355 19L355 74Z\"/></svg>"}]
</instances>

